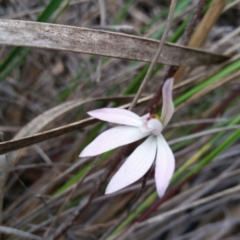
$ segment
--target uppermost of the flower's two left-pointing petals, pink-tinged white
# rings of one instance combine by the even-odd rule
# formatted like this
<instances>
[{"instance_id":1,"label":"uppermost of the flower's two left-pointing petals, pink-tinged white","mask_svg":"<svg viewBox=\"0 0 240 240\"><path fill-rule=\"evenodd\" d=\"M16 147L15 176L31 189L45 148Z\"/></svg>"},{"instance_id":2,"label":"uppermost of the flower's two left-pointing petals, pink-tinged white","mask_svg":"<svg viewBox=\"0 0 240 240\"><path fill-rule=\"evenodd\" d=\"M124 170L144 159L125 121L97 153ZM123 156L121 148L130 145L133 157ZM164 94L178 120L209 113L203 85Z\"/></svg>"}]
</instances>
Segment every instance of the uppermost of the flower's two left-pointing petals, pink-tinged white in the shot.
<instances>
[{"instance_id":1,"label":"uppermost of the flower's two left-pointing petals, pink-tinged white","mask_svg":"<svg viewBox=\"0 0 240 240\"><path fill-rule=\"evenodd\" d=\"M137 114L121 108L101 108L90 111L88 114L102 121L134 127L139 127L143 123L141 117L139 117Z\"/></svg>"}]
</instances>

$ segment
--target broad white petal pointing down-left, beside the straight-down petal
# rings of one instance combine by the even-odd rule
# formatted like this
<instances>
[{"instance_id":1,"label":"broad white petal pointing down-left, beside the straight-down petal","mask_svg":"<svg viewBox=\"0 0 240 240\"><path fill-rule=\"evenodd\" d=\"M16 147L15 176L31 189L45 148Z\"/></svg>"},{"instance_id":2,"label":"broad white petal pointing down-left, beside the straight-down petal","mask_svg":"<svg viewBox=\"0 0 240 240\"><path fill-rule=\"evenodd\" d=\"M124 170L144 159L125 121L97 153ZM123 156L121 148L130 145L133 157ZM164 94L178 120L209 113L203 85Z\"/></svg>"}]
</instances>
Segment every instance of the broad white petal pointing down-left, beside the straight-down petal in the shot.
<instances>
[{"instance_id":1,"label":"broad white petal pointing down-left, beside the straight-down petal","mask_svg":"<svg viewBox=\"0 0 240 240\"><path fill-rule=\"evenodd\" d=\"M109 182L106 194L116 192L140 179L151 167L156 156L157 142L150 136L127 158Z\"/></svg>"}]
</instances>

